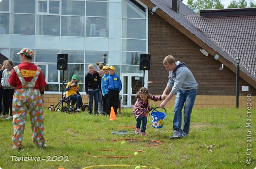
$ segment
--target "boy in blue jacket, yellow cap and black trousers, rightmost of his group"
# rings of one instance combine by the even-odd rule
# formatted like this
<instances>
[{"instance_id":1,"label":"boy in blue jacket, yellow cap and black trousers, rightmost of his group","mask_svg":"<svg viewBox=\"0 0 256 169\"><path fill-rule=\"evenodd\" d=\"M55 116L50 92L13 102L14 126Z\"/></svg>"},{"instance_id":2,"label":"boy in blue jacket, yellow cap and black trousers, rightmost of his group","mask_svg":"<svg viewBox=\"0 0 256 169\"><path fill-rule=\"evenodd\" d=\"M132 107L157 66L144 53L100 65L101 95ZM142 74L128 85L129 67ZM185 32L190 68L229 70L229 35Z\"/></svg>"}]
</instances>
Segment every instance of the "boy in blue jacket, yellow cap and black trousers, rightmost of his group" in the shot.
<instances>
[{"instance_id":1,"label":"boy in blue jacket, yellow cap and black trousers, rightmost of his group","mask_svg":"<svg viewBox=\"0 0 256 169\"><path fill-rule=\"evenodd\" d=\"M115 68L110 66L108 68L109 75L107 76L105 89L108 93L107 98L107 115L110 115L110 109L113 106L115 114L117 114L118 102L119 102L119 92L122 90L122 82L120 77L115 74Z\"/></svg>"}]
</instances>

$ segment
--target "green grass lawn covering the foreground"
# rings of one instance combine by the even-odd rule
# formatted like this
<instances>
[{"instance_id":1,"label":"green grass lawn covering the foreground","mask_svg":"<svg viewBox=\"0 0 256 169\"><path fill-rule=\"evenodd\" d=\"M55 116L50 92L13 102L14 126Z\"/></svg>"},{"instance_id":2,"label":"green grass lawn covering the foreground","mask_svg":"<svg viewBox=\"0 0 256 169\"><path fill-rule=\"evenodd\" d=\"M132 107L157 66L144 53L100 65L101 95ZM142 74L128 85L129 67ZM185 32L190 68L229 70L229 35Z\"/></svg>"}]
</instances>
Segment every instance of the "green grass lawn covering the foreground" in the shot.
<instances>
[{"instance_id":1,"label":"green grass lawn covering the foreground","mask_svg":"<svg viewBox=\"0 0 256 169\"><path fill-rule=\"evenodd\" d=\"M161 109L160 109L161 110ZM147 166L158 169L255 169L256 167L256 110L251 112L251 128L246 128L246 109L198 109L193 110L190 134L187 138L170 140L173 133L173 109L168 108L163 128L152 127L148 117L146 137L140 135L116 135L111 131L133 130L120 126L135 126L132 109L123 109L118 120L109 121L106 116L44 112L46 149L37 149L32 143L29 118L21 152L11 150L12 123L0 120L0 169L83 169L94 165ZM247 139L251 131L251 139ZM114 139L140 138L142 140ZM145 146L162 142L159 146ZM248 140L253 145L247 150ZM112 151L99 151L115 149ZM138 156L133 156L134 150ZM246 155L251 153L250 156ZM131 156L129 158L96 158L91 156ZM33 161L21 161L22 158ZM64 158L63 158L64 157ZM252 160L246 164L246 158ZM39 160L39 158L45 160ZM15 161L20 159L20 161ZM47 161L49 160L49 161ZM59 161L58 161L59 160ZM113 169L101 167L92 169Z\"/></svg>"}]
</instances>

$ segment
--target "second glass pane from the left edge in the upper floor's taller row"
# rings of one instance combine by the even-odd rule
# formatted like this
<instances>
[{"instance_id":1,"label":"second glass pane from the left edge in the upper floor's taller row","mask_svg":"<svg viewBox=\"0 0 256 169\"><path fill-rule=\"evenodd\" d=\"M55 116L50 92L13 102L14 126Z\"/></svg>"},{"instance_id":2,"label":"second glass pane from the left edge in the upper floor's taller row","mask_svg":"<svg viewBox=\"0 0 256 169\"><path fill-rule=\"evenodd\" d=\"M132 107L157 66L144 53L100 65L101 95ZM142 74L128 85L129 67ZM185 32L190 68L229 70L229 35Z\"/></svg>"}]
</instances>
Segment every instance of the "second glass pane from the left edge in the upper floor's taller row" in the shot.
<instances>
[{"instance_id":1,"label":"second glass pane from the left edge in the upper floor's taller row","mask_svg":"<svg viewBox=\"0 0 256 169\"><path fill-rule=\"evenodd\" d=\"M35 15L11 14L11 34L34 35Z\"/></svg>"}]
</instances>

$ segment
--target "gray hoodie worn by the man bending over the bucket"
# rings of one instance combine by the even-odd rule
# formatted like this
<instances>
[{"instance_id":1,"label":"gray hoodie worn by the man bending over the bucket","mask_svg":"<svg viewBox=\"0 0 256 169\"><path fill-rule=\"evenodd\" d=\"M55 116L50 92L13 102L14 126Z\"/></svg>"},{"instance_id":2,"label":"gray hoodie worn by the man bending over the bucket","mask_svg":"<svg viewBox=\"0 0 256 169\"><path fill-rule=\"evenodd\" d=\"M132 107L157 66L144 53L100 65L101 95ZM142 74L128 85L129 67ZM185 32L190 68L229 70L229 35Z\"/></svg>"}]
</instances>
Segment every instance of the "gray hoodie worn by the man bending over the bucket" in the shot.
<instances>
[{"instance_id":1,"label":"gray hoodie worn by the man bending over the bucket","mask_svg":"<svg viewBox=\"0 0 256 169\"><path fill-rule=\"evenodd\" d=\"M197 82L192 72L185 66L185 63L176 62L175 71L169 71L169 80L167 86L171 89L171 93L176 95L179 90L187 91L197 89Z\"/></svg>"}]
</instances>

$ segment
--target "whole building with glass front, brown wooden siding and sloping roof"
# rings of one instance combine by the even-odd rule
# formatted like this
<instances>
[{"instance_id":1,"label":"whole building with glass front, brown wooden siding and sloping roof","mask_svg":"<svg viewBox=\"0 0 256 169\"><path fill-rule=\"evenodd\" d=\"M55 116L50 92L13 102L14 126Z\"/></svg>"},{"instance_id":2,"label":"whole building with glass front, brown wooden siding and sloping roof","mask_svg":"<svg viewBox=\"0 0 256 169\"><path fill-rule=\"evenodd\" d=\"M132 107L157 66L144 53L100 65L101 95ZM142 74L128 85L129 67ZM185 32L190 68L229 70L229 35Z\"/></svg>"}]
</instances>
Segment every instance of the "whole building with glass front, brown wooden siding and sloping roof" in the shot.
<instances>
[{"instance_id":1,"label":"whole building with glass front, brown wooden siding and sloping roof","mask_svg":"<svg viewBox=\"0 0 256 169\"><path fill-rule=\"evenodd\" d=\"M63 74L66 81L78 75L88 103L87 67L103 62L104 53L121 77L122 106L133 106L143 82L151 94L162 94L168 80L162 61L169 54L194 74L195 108L235 107L238 64L240 105L252 100L255 106L255 23L255 8L208 10L199 16L181 0L1 0L0 53L17 65L21 48L35 51L33 61L48 84L45 107L62 97ZM68 54L67 71L57 70L58 53ZM139 70L141 53L151 54L145 75Z\"/></svg>"}]
</instances>

